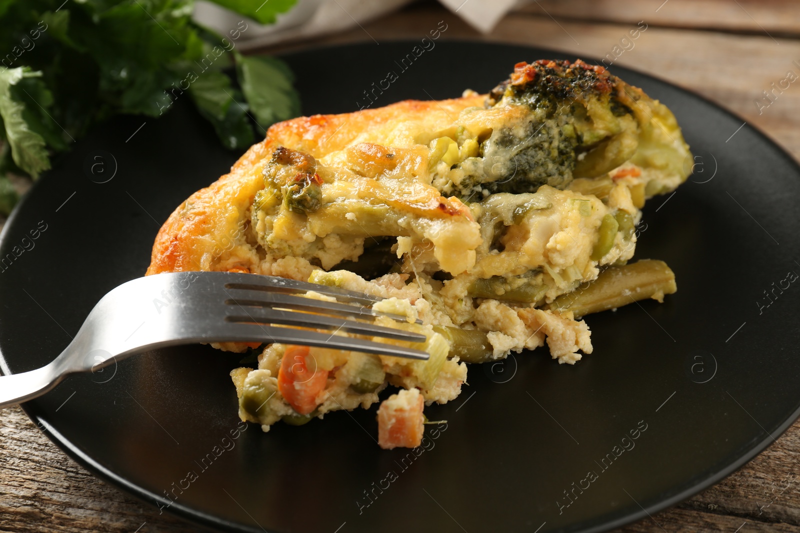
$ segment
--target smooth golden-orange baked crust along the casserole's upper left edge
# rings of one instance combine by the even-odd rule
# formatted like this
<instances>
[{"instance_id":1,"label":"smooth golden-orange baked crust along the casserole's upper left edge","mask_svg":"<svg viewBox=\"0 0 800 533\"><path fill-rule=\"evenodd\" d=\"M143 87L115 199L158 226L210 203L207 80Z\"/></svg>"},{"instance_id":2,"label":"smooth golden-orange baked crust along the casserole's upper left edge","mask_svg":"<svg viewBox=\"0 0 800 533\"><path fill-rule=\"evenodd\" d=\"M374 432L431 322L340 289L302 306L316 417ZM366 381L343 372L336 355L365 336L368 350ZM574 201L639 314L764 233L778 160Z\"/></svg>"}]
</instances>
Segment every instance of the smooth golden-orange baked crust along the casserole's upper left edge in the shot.
<instances>
[{"instance_id":1,"label":"smooth golden-orange baked crust along the casserole's upper left edge","mask_svg":"<svg viewBox=\"0 0 800 533\"><path fill-rule=\"evenodd\" d=\"M264 141L251 146L230 173L192 194L174 210L155 239L147 275L215 269L214 260L240 239L255 194L264 186L265 162L278 146L324 157L358 140L366 143L356 147L364 166L376 170L376 161L386 152L380 145L414 144L415 132L442 129L463 109L483 105L485 98L476 94L442 101L406 100L379 109L298 117L273 125ZM398 129L398 123L404 127ZM374 146L370 148L369 144ZM442 203L441 195L432 196L431 192L428 189L428 197L418 199L418 208L428 214L453 215L448 213L450 204ZM455 207L458 210L460 206Z\"/></svg>"}]
</instances>

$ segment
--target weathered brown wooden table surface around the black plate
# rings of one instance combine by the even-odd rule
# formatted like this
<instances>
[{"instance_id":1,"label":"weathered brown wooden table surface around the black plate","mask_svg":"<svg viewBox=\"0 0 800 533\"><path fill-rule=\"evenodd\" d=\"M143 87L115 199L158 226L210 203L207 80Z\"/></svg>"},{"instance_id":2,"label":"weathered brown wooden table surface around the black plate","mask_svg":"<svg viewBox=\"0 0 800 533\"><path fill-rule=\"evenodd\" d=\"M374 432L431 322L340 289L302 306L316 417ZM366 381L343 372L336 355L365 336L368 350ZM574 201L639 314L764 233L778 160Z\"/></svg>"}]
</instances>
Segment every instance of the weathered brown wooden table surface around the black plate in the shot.
<instances>
[{"instance_id":1,"label":"weathered brown wooden table surface around the black plate","mask_svg":"<svg viewBox=\"0 0 800 533\"><path fill-rule=\"evenodd\" d=\"M486 35L437 3L419 2L363 28L264 51L418 38L441 20L448 25L444 39L608 57L666 78L738 113L800 159L800 83L775 91L773 101L762 93L779 86L789 71L800 74L796 0L539 0L507 15ZM647 30L620 53L620 39L640 21ZM0 421L0 531L198 531L95 478L50 443L21 409L0 412ZM718 485L617 531L800 533L798 472L800 423Z\"/></svg>"}]
</instances>

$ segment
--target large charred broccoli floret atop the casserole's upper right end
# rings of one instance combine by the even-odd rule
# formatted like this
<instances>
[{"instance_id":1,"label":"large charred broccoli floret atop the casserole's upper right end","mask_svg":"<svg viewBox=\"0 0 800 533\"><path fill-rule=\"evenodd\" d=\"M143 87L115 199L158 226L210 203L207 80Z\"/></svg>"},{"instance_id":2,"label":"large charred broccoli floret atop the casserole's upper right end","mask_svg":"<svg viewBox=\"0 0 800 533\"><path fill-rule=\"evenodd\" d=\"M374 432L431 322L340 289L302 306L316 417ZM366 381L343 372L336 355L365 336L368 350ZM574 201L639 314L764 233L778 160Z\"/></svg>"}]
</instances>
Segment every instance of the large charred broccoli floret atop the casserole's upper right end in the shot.
<instances>
[{"instance_id":1,"label":"large charred broccoli floret atop the casserole's upper right end","mask_svg":"<svg viewBox=\"0 0 800 533\"><path fill-rule=\"evenodd\" d=\"M581 60L518 63L486 99L487 108L502 105L530 112L482 142L482 165L462 164L464 178L453 185L461 197L565 189L574 177L598 177L634 157L656 108L669 113L641 89ZM679 129L677 135L685 147ZM685 158L687 150L678 151Z\"/></svg>"}]
</instances>

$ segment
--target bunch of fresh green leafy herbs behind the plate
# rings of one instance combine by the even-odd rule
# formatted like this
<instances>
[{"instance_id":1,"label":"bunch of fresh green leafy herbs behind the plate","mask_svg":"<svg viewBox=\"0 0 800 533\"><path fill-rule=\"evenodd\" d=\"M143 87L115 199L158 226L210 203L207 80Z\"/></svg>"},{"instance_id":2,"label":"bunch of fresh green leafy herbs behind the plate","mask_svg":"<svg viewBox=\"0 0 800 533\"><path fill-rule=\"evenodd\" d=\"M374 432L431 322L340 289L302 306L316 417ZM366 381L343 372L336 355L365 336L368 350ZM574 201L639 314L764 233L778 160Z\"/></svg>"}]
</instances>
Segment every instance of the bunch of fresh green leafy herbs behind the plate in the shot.
<instances>
[{"instance_id":1,"label":"bunch of fresh green leafy herbs behind the plate","mask_svg":"<svg viewBox=\"0 0 800 533\"><path fill-rule=\"evenodd\" d=\"M216 34L192 20L193 0L0 0L0 211L15 198L5 173L38 177L116 114L189 100L229 149L253 143L253 121L263 133L296 116L290 70L236 50L249 19L274 22L296 0L215 1L248 19Z\"/></svg>"}]
</instances>

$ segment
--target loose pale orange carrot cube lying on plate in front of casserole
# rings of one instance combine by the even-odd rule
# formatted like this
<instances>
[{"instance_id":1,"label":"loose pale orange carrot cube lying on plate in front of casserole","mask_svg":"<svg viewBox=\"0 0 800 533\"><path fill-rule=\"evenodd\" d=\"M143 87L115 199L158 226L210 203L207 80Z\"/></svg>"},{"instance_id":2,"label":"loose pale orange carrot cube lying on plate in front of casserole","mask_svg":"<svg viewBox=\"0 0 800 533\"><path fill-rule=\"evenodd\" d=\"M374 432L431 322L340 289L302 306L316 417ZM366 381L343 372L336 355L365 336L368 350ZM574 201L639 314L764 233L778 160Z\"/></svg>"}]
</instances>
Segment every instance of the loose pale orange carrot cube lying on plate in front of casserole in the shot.
<instances>
[{"instance_id":1,"label":"loose pale orange carrot cube lying on plate in front of casserole","mask_svg":"<svg viewBox=\"0 0 800 533\"><path fill-rule=\"evenodd\" d=\"M418 389L402 390L386 398L378 408L378 444L384 450L393 447L418 447L425 429L425 407Z\"/></svg>"}]
</instances>

